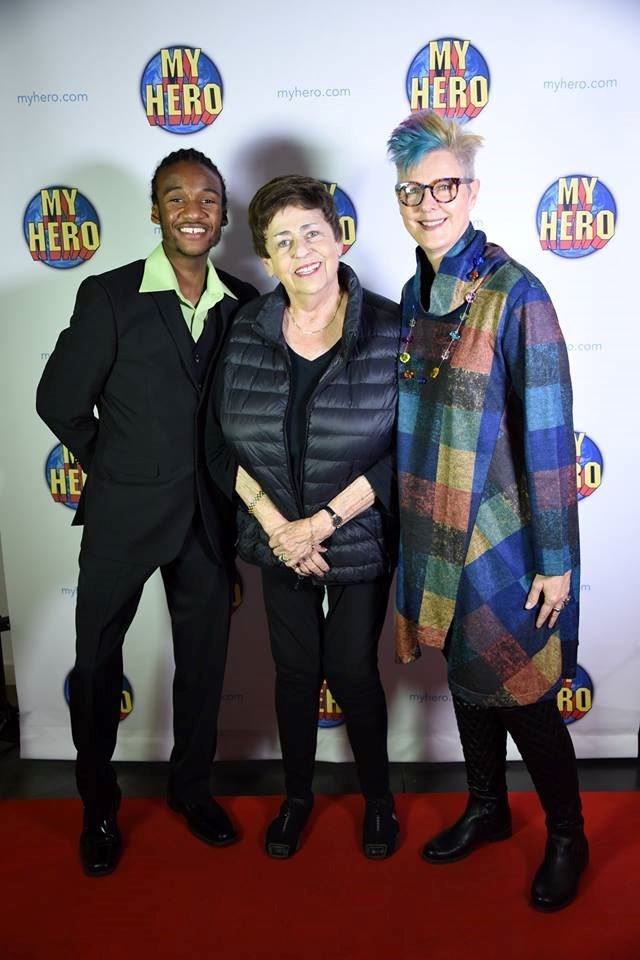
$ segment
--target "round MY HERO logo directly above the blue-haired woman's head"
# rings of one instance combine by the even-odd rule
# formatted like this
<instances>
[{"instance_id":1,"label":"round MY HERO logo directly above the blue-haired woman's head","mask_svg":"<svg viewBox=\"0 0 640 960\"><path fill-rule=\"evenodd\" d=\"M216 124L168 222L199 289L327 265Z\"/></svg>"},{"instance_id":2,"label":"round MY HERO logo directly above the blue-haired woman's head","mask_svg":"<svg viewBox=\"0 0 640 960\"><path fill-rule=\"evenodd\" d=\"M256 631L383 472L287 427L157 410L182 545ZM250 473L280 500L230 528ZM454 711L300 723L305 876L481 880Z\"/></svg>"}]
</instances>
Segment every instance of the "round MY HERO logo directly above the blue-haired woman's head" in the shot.
<instances>
[{"instance_id":1,"label":"round MY HERO logo directly above the blue-haired woman's head","mask_svg":"<svg viewBox=\"0 0 640 960\"><path fill-rule=\"evenodd\" d=\"M469 40L430 40L413 58L406 87L412 110L466 122L489 102L489 69Z\"/></svg>"}]
</instances>

